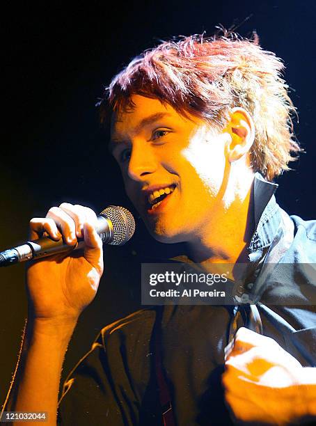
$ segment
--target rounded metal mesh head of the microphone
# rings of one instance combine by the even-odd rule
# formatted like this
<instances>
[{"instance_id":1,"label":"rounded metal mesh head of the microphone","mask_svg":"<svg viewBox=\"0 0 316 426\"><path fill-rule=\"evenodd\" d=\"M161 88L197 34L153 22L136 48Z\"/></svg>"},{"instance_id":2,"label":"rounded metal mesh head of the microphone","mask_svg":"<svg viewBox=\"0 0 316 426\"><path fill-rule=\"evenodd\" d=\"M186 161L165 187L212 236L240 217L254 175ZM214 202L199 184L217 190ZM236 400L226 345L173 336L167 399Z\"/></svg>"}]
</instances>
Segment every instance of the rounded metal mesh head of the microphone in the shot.
<instances>
[{"instance_id":1,"label":"rounded metal mesh head of the microphone","mask_svg":"<svg viewBox=\"0 0 316 426\"><path fill-rule=\"evenodd\" d=\"M100 214L109 218L113 226L113 240L108 244L123 246L132 238L135 231L135 221L129 210L118 205L109 205Z\"/></svg>"}]
</instances>

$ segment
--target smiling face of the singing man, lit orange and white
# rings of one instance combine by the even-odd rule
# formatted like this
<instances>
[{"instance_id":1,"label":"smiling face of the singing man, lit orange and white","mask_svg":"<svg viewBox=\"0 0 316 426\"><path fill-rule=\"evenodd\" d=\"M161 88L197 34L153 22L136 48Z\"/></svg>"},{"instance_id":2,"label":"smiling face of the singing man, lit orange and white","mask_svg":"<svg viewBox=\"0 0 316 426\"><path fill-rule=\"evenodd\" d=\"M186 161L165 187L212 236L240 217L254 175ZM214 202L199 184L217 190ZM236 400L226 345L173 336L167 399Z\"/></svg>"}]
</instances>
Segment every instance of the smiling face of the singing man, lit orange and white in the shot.
<instances>
[{"instance_id":1,"label":"smiling face of the singing man, lit orange and white","mask_svg":"<svg viewBox=\"0 0 316 426\"><path fill-rule=\"evenodd\" d=\"M196 239L223 210L227 134L157 99L132 100L132 111L113 116L111 132L127 195L158 241Z\"/></svg>"}]
</instances>

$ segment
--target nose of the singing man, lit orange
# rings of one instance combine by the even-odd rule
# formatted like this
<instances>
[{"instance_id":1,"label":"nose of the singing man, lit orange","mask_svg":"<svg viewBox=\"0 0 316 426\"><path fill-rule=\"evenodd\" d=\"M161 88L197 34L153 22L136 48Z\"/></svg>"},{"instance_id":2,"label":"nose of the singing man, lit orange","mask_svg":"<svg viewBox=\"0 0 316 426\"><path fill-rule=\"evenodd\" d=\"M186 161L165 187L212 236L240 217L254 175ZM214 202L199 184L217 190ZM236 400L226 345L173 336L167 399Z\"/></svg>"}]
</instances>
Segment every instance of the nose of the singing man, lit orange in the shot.
<instances>
[{"instance_id":1,"label":"nose of the singing man, lit orange","mask_svg":"<svg viewBox=\"0 0 316 426\"><path fill-rule=\"evenodd\" d=\"M128 175L133 180L143 180L145 175L155 172L157 159L148 144L134 143L129 159Z\"/></svg>"}]
</instances>

